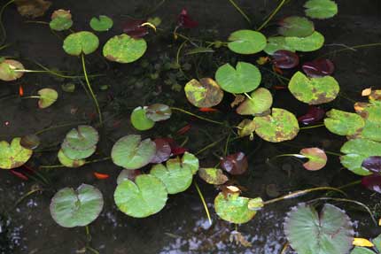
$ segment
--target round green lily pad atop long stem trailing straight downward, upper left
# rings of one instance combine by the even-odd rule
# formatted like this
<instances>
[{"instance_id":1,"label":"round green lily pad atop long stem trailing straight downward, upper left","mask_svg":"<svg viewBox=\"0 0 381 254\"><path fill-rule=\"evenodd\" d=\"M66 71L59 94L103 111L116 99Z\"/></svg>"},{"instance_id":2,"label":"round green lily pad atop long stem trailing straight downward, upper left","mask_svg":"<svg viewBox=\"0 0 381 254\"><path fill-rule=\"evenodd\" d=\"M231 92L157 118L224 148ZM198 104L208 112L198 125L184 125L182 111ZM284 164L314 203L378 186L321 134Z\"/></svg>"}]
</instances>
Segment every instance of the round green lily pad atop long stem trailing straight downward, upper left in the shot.
<instances>
[{"instance_id":1,"label":"round green lily pad atop long stem trailing straight downward, upper left","mask_svg":"<svg viewBox=\"0 0 381 254\"><path fill-rule=\"evenodd\" d=\"M97 35L89 31L81 31L68 35L64 40L63 48L65 52L72 56L79 56L82 53L89 55L97 50L99 39Z\"/></svg>"}]
</instances>

